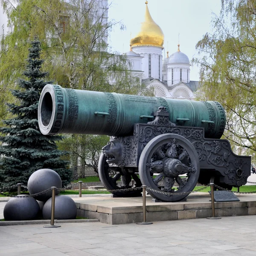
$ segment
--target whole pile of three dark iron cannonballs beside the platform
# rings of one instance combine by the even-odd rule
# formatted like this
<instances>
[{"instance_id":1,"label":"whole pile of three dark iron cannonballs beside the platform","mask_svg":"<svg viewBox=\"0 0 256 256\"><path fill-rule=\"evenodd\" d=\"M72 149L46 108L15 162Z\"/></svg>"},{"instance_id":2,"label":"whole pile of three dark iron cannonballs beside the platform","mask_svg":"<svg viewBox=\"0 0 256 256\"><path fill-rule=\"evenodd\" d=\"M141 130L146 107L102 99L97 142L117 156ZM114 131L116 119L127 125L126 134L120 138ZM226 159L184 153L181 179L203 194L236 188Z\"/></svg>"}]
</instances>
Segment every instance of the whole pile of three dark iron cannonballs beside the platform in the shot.
<instances>
[{"instance_id":1,"label":"whole pile of three dark iron cannonballs beside the platform","mask_svg":"<svg viewBox=\"0 0 256 256\"><path fill-rule=\"evenodd\" d=\"M62 187L61 177L51 169L40 169L29 177L28 191L30 195L43 192L52 186ZM55 190L55 219L75 219L77 214L76 204L66 195L58 195ZM20 195L22 196L22 195ZM3 209L6 221L25 221L35 219L38 213L43 213L44 219L51 218L52 190L29 198L11 198Z\"/></svg>"}]
</instances>

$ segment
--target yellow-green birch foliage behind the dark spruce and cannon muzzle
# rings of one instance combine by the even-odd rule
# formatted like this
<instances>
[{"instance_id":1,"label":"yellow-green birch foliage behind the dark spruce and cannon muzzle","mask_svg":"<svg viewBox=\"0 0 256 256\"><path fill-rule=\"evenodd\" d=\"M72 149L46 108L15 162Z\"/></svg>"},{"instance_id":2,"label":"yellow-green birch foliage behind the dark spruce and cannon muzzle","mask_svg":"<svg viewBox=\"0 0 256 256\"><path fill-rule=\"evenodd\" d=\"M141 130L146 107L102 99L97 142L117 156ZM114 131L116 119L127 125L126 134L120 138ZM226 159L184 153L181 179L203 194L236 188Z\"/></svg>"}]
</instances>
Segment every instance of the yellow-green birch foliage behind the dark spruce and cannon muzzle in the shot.
<instances>
[{"instance_id":1,"label":"yellow-green birch foliage behind the dark spruce and cannon muzzle","mask_svg":"<svg viewBox=\"0 0 256 256\"><path fill-rule=\"evenodd\" d=\"M6 90L15 88L15 81L26 64L29 41L35 35L42 45L41 57L45 60L42 68L49 71L49 79L55 84L73 89L151 96L151 90L129 71L131 63L126 56L107 50L108 30L116 25L123 29L123 25L107 21L108 9L100 9L99 1L16 0L17 7L10 5L8 0L0 2L13 27L0 52L0 87L4 90L0 91L0 117L6 114L1 102L11 97ZM96 170L96 157L103 141L106 137L70 135L58 145L71 152L74 168L77 157L81 157L82 168L92 166Z\"/></svg>"}]
</instances>

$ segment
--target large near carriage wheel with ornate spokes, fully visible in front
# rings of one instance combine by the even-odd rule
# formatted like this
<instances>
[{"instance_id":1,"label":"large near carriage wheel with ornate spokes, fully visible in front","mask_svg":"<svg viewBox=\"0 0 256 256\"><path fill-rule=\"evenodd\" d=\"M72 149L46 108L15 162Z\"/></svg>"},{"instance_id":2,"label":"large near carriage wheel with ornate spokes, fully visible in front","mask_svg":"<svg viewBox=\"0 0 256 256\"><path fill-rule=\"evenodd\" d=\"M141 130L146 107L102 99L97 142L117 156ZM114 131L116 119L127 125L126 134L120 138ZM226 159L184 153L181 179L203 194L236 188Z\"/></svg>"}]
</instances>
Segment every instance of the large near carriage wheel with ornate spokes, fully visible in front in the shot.
<instances>
[{"instance_id":1,"label":"large near carriage wheel with ornate spokes, fully visible in front","mask_svg":"<svg viewBox=\"0 0 256 256\"><path fill-rule=\"evenodd\" d=\"M162 134L152 139L143 149L139 161L140 179L148 194L160 201L180 201L198 181L200 167L198 154L186 138L178 134ZM154 177L154 174L158 174ZM177 190L174 188L175 182ZM166 195L160 192L173 192Z\"/></svg>"}]
</instances>

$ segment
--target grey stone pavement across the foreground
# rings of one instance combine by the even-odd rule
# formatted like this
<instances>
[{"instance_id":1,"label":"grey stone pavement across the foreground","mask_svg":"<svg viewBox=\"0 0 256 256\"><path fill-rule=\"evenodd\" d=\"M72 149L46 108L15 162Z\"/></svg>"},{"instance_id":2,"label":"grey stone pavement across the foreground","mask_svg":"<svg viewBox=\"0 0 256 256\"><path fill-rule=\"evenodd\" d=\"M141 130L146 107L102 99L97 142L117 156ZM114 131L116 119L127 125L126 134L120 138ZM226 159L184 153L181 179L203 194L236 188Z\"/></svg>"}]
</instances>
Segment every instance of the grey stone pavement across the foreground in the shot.
<instances>
[{"instance_id":1,"label":"grey stone pavement across the foreground","mask_svg":"<svg viewBox=\"0 0 256 256\"><path fill-rule=\"evenodd\" d=\"M255 256L255 218L0 226L0 256Z\"/></svg>"}]
</instances>

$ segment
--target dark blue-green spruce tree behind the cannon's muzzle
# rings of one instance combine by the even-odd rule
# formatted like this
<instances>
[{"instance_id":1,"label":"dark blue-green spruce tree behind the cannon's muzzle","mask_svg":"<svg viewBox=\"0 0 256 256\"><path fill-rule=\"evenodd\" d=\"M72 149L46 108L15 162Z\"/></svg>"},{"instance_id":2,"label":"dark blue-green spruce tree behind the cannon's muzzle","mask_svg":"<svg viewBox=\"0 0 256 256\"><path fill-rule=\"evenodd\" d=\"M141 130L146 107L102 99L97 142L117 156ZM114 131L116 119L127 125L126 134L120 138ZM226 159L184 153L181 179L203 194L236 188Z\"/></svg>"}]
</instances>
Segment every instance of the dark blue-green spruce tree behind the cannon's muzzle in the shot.
<instances>
[{"instance_id":1,"label":"dark blue-green spruce tree behind the cannon's muzzle","mask_svg":"<svg viewBox=\"0 0 256 256\"><path fill-rule=\"evenodd\" d=\"M27 184L29 176L38 169L49 168L57 172L66 185L72 172L67 169L68 162L61 159L63 151L57 149L56 141L61 136L45 136L38 127L38 101L43 87L49 82L43 79L47 72L40 70L41 43L37 39L31 42L26 70L27 80L17 81L19 90L11 90L17 101L8 103L13 118L4 120L0 131L0 187L17 183Z\"/></svg>"}]
</instances>

